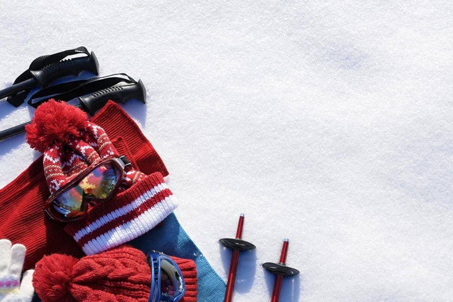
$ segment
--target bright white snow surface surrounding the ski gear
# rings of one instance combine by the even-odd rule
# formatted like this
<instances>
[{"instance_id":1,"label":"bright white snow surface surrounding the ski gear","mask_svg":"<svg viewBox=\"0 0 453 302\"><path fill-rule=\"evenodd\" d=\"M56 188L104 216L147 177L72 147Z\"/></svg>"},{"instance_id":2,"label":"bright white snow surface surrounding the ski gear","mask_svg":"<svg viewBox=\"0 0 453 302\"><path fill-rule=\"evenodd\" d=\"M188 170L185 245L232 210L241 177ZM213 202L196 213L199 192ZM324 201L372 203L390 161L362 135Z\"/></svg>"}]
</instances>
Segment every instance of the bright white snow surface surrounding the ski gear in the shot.
<instances>
[{"instance_id":1,"label":"bright white snow surface surrounding the ski gear","mask_svg":"<svg viewBox=\"0 0 453 302\"><path fill-rule=\"evenodd\" d=\"M147 105L123 106L170 171L218 274L246 214L235 301L453 300L453 6L448 1L2 1L0 83L86 46ZM82 75L83 76L83 75ZM0 102L0 129L32 116ZM38 154L0 142L0 186ZM203 302L203 301L201 301Z\"/></svg>"}]
</instances>

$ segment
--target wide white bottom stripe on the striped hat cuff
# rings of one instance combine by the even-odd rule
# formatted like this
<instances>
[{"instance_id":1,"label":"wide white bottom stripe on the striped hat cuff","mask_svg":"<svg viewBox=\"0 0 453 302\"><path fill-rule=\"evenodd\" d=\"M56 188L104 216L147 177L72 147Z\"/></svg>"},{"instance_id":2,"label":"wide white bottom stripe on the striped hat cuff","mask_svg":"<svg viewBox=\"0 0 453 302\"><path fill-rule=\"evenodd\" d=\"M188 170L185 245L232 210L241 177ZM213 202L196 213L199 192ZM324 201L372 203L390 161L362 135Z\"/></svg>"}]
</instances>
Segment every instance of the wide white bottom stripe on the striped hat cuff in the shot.
<instances>
[{"instance_id":1,"label":"wide white bottom stripe on the striped hat cuff","mask_svg":"<svg viewBox=\"0 0 453 302\"><path fill-rule=\"evenodd\" d=\"M117 226L96 239L90 240L82 247L82 250L87 255L94 255L129 242L153 229L177 206L176 198L170 195L134 219Z\"/></svg>"}]
</instances>

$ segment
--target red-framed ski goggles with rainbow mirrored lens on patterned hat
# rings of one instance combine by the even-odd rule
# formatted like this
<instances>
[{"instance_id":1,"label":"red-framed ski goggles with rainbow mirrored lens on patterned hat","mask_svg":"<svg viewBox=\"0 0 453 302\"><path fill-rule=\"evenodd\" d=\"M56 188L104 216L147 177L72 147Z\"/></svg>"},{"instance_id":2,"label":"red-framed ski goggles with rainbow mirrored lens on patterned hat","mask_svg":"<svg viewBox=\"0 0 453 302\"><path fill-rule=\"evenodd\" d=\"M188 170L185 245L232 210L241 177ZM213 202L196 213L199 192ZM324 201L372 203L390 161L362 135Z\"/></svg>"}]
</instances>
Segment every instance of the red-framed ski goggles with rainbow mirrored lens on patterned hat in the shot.
<instances>
[{"instance_id":1,"label":"red-framed ski goggles with rainbow mirrored lens on patterned hat","mask_svg":"<svg viewBox=\"0 0 453 302\"><path fill-rule=\"evenodd\" d=\"M50 195L44 210L61 222L80 220L87 215L88 205L110 199L118 190L129 166L124 157L108 157L93 163L84 172Z\"/></svg>"}]
</instances>

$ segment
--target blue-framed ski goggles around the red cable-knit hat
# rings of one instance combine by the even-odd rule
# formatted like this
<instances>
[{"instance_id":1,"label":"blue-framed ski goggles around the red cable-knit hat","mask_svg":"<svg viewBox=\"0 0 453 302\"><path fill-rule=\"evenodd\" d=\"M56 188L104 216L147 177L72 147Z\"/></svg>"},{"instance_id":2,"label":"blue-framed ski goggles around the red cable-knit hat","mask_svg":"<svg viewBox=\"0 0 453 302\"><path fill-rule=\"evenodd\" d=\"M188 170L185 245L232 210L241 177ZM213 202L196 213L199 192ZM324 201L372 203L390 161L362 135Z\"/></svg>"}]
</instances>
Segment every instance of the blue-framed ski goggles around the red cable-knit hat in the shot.
<instances>
[{"instance_id":1,"label":"blue-framed ski goggles around the red cable-knit hat","mask_svg":"<svg viewBox=\"0 0 453 302\"><path fill-rule=\"evenodd\" d=\"M150 251L146 257L151 267L148 302L178 302L186 293L186 285L176 262L158 251Z\"/></svg>"}]
</instances>

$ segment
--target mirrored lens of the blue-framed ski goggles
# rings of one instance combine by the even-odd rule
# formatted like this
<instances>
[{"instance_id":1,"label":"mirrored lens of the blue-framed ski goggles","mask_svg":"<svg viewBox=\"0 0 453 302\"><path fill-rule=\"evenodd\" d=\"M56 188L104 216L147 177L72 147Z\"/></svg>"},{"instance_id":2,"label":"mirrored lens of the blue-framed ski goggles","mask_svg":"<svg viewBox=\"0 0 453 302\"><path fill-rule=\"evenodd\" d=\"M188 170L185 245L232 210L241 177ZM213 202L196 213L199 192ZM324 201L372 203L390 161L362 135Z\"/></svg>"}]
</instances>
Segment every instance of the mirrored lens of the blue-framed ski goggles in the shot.
<instances>
[{"instance_id":1,"label":"mirrored lens of the blue-framed ski goggles","mask_svg":"<svg viewBox=\"0 0 453 302\"><path fill-rule=\"evenodd\" d=\"M159 301L179 301L184 294L184 281L175 265L166 259L161 260L161 299Z\"/></svg>"}]
</instances>

